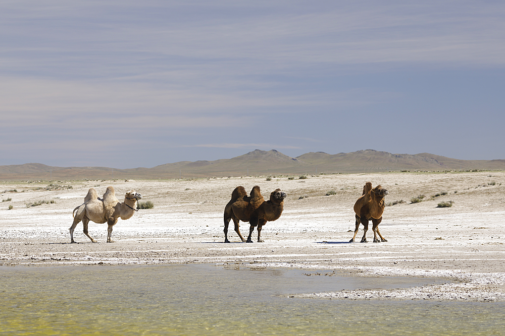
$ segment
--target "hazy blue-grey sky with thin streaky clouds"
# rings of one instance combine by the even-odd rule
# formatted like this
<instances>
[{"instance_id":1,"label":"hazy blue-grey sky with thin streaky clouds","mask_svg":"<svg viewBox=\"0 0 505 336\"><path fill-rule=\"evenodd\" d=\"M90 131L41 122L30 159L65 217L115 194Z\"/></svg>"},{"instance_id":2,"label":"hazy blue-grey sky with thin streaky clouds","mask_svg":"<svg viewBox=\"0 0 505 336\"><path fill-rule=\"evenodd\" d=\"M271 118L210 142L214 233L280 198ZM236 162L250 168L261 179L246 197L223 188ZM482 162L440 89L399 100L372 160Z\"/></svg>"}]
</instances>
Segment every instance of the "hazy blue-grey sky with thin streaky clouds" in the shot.
<instances>
[{"instance_id":1,"label":"hazy blue-grey sky with thin streaky clouds","mask_svg":"<svg viewBox=\"0 0 505 336\"><path fill-rule=\"evenodd\" d=\"M3 0L0 165L505 159L502 1Z\"/></svg>"}]
</instances>

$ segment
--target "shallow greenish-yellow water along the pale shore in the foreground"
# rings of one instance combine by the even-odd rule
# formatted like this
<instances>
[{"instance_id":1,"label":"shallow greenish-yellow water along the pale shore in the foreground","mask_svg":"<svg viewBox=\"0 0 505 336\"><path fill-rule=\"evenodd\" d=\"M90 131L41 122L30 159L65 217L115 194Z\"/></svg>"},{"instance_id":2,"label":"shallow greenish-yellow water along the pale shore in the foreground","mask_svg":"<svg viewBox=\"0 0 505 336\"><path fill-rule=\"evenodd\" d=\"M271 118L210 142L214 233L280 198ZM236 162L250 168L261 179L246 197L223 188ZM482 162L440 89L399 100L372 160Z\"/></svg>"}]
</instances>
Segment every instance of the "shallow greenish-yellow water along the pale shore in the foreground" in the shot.
<instances>
[{"instance_id":1,"label":"shallow greenish-yellow water along the pale shore in the foreground","mask_svg":"<svg viewBox=\"0 0 505 336\"><path fill-rule=\"evenodd\" d=\"M493 335L505 304L289 298L428 280L238 265L0 267L2 335ZM328 273L328 271L319 271Z\"/></svg>"}]
</instances>

